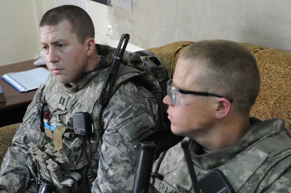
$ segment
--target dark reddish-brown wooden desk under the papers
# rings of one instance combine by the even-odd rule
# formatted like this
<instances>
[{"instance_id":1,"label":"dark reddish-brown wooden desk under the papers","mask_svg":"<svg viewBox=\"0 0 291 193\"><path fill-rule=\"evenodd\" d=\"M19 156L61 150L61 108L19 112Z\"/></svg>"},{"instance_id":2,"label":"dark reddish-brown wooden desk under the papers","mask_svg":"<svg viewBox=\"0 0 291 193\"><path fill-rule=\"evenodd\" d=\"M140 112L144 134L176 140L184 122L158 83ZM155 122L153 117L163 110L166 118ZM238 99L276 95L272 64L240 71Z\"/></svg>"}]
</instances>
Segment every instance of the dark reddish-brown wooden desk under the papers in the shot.
<instances>
[{"instance_id":1,"label":"dark reddish-brown wooden desk under the papers","mask_svg":"<svg viewBox=\"0 0 291 193\"><path fill-rule=\"evenodd\" d=\"M37 68L37 66L33 64L34 61L35 60L29 60L0 66L0 76L8 72L21 72ZM6 103L0 103L0 127L22 122L26 108L32 101L36 89L27 92L18 92L1 78L0 83L6 99Z\"/></svg>"}]
</instances>

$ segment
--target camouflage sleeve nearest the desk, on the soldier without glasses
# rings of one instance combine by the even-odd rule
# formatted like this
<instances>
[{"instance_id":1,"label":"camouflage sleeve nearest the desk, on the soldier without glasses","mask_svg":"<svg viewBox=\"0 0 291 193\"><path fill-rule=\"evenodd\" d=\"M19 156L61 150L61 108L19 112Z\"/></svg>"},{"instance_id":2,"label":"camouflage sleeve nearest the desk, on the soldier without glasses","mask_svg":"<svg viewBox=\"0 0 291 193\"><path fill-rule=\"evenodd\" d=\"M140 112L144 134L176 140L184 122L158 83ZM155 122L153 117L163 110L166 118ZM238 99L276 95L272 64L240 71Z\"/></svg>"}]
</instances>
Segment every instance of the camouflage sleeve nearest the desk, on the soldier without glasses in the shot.
<instances>
[{"instance_id":1,"label":"camouflage sleeve nearest the desk, on the soldier without glasses","mask_svg":"<svg viewBox=\"0 0 291 193\"><path fill-rule=\"evenodd\" d=\"M42 100L41 85L27 108L24 122L15 133L12 146L8 148L0 170L0 187L9 192L24 192L31 184L31 174L27 164L30 155L28 143L37 143L40 137L40 102Z\"/></svg>"}]
</instances>

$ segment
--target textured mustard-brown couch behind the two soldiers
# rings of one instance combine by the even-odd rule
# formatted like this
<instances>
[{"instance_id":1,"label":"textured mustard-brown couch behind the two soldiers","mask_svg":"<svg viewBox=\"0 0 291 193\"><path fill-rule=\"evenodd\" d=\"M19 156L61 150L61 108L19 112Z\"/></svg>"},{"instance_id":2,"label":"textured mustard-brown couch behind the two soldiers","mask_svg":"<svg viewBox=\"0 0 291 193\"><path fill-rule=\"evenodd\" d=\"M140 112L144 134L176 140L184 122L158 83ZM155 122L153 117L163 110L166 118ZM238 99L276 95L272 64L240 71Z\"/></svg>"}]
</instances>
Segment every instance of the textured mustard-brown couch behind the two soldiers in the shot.
<instances>
[{"instance_id":1,"label":"textured mustard-brown couch behind the two soldiers","mask_svg":"<svg viewBox=\"0 0 291 193\"><path fill-rule=\"evenodd\" d=\"M147 50L157 53L168 71L168 78L172 78L181 51L191 43L195 42L173 42ZM248 47L257 59L261 74L260 94L251 108L250 116L261 120L282 117L286 120L286 133L291 136L291 53L281 49L242 44ZM0 128L0 161L11 146L19 125L20 123Z\"/></svg>"}]
</instances>

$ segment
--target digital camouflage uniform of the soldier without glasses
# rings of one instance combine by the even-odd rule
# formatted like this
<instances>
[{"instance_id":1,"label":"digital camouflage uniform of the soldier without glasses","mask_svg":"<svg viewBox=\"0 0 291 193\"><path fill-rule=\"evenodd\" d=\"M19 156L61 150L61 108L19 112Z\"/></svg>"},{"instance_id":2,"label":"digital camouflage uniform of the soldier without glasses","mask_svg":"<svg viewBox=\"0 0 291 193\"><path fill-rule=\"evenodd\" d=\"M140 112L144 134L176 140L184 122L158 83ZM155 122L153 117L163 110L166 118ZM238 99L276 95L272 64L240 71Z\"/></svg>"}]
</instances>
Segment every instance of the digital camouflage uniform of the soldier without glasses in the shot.
<instances>
[{"instance_id":1,"label":"digital camouflage uniform of the soldier without glasses","mask_svg":"<svg viewBox=\"0 0 291 193\"><path fill-rule=\"evenodd\" d=\"M105 133L103 144L97 132L97 115L100 109L98 97L108 72L108 66L115 54L113 48L96 44L100 62L95 69L82 74L82 79L73 87L58 83L50 75L45 86L41 86L26 111L23 124L13 138L12 147L6 153L1 166L0 187L10 192L35 192L35 183L27 164L30 154L28 143L37 144L40 137L40 108L47 102L51 121L67 123L75 112L89 112L93 120L94 133L91 142L86 141L86 152L92 167L99 160L97 178L92 192L124 192L127 179L134 174L138 152L134 150L142 134L159 128L159 114L156 99L138 82L126 80L111 97L102 116ZM122 63L129 63L125 52ZM123 77L116 81L122 82ZM158 84L158 83L157 83ZM55 133L56 131L54 131ZM42 134L43 136L44 134ZM46 138L42 144L46 144ZM70 169L82 178L88 163L80 145L80 137L63 137L62 148ZM57 148L56 148L57 149ZM101 149L101 151L100 151ZM43 175L42 175L43 176ZM80 183L80 182L78 182ZM75 183L75 186L78 186ZM66 190L67 191L67 190ZM79 192L79 191L77 191ZM84 191L83 191L84 192Z\"/></svg>"}]
</instances>

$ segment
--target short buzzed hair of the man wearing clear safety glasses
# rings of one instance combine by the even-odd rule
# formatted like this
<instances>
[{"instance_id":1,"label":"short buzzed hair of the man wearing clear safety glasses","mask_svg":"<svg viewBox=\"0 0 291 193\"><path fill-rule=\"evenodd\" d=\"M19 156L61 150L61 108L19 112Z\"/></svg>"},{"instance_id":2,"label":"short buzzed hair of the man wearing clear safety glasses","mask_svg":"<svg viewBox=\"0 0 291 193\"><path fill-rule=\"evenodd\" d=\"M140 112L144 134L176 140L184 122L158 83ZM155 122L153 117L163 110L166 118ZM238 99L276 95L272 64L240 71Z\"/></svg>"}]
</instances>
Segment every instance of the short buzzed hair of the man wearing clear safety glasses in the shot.
<instances>
[{"instance_id":1,"label":"short buzzed hair of the man wearing clear safety glasses","mask_svg":"<svg viewBox=\"0 0 291 193\"><path fill-rule=\"evenodd\" d=\"M229 40L194 42L180 55L197 59L203 65L203 78L198 84L204 92L213 92L233 99L233 107L249 113L260 91L260 73L249 49Z\"/></svg>"}]
</instances>

